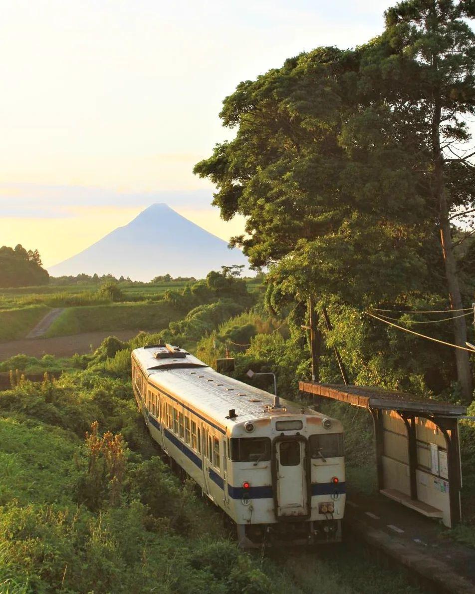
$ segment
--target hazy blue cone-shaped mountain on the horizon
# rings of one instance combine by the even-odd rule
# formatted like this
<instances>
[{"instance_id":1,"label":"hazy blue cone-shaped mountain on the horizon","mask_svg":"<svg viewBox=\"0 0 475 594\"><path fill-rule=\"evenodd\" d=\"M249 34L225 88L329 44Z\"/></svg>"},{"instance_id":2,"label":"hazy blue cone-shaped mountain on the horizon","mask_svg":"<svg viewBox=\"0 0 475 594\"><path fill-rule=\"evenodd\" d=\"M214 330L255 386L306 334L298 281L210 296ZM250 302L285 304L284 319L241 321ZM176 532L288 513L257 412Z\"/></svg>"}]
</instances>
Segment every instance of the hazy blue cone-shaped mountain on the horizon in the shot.
<instances>
[{"instance_id":1,"label":"hazy blue cone-shaped mountain on the horizon","mask_svg":"<svg viewBox=\"0 0 475 594\"><path fill-rule=\"evenodd\" d=\"M239 249L185 217L167 204L153 204L134 220L118 227L95 244L48 268L52 276L85 274L124 275L148 281L171 274L204 278L222 265L248 264Z\"/></svg>"}]
</instances>

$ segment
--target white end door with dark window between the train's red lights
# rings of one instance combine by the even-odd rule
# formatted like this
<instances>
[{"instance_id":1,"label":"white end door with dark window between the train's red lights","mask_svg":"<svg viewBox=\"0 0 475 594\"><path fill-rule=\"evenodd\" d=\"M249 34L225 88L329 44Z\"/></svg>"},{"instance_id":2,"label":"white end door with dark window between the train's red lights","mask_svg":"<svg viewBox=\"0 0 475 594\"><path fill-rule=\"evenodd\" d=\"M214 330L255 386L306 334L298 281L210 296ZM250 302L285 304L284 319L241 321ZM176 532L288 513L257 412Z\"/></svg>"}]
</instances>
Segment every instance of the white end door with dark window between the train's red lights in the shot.
<instances>
[{"instance_id":1,"label":"white end door with dark window between the train's red lights","mask_svg":"<svg viewBox=\"0 0 475 594\"><path fill-rule=\"evenodd\" d=\"M273 479L277 517L308 516L309 494L307 442L282 437L274 440Z\"/></svg>"}]
</instances>

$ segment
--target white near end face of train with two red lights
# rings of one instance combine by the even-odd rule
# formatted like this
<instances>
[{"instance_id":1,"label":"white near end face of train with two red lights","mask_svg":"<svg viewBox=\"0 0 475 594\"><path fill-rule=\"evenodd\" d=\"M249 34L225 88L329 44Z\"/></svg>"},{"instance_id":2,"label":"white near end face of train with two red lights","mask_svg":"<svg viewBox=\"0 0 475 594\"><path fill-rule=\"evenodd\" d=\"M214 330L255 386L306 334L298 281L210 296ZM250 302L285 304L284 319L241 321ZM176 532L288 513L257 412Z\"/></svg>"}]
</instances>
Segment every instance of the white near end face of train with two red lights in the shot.
<instances>
[{"instance_id":1,"label":"white near end face of train with two red lights","mask_svg":"<svg viewBox=\"0 0 475 594\"><path fill-rule=\"evenodd\" d=\"M233 426L229 493L242 546L341 541L343 426L286 408Z\"/></svg>"}]
</instances>

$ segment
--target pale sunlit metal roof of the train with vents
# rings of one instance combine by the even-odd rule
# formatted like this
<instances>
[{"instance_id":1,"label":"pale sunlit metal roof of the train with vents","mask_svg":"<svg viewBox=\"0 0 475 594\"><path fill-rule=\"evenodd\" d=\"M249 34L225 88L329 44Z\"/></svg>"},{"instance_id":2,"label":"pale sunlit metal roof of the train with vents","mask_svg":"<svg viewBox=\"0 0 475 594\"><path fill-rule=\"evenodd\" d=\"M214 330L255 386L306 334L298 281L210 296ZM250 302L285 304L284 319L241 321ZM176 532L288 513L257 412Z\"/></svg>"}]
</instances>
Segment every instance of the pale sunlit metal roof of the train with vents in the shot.
<instances>
[{"instance_id":1,"label":"pale sunlit metal roof of the train with vents","mask_svg":"<svg viewBox=\"0 0 475 594\"><path fill-rule=\"evenodd\" d=\"M135 349L132 354L150 383L170 396L179 397L223 426L229 425L230 409L235 409L238 416L235 422L283 414L278 409L268 409L274 404L274 394L222 375L186 350L170 345L151 345ZM287 409L286 415L303 412L325 416L288 400L280 399L280 403Z\"/></svg>"}]
</instances>

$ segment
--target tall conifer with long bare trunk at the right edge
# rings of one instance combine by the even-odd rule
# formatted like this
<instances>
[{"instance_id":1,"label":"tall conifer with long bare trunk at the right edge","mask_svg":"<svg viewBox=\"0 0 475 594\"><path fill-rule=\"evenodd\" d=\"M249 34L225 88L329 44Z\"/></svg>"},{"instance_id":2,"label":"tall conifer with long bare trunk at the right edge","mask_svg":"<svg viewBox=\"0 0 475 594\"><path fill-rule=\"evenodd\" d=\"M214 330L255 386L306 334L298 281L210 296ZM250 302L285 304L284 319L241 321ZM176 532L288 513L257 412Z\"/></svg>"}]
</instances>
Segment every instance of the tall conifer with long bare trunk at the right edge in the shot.
<instances>
[{"instance_id":1,"label":"tall conifer with long bare trunk at the right edge","mask_svg":"<svg viewBox=\"0 0 475 594\"><path fill-rule=\"evenodd\" d=\"M446 287L451 308L463 308L454 246L474 233L473 150L466 150L470 131L465 119L475 113L475 34L468 19L473 0L407 0L385 13L386 28L378 52L367 52L360 80L372 81L384 102L413 132L406 149L420 173L420 193L427 214L439 228ZM385 52L385 55L382 55ZM375 59L376 58L376 59ZM465 221L467 232L452 225ZM457 238L452 236L454 230ZM454 339L465 347L467 327L454 311ZM468 352L457 349L457 375L465 399L473 396Z\"/></svg>"}]
</instances>

